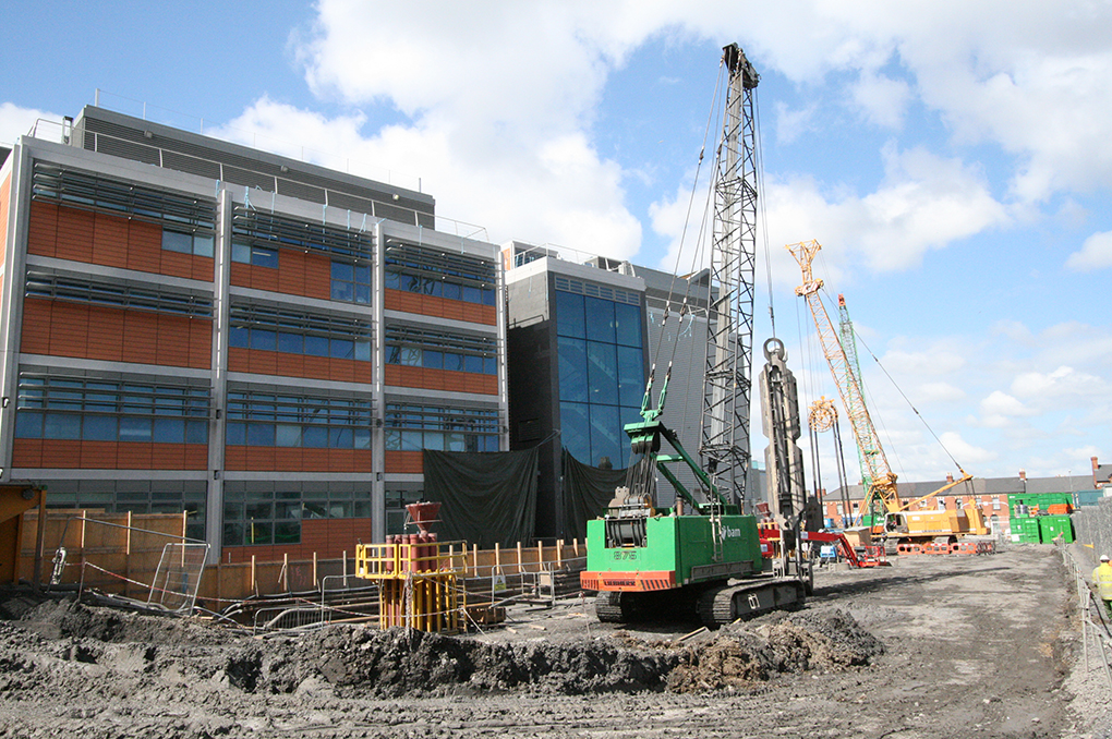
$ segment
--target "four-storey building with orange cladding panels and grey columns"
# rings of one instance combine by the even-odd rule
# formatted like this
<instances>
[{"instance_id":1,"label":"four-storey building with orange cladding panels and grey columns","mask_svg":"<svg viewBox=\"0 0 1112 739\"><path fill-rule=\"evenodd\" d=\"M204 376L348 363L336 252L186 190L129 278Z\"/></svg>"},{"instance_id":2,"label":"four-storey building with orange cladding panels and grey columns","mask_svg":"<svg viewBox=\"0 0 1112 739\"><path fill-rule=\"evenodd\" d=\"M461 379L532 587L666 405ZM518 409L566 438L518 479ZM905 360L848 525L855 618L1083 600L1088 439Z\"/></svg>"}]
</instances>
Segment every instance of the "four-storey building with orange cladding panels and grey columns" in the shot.
<instances>
[{"instance_id":1,"label":"four-storey building with orange cladding panels and grey columns","mask_svg":"<svg viewBox=\"0 0 1112 739\"><path fill-rule=\"evenodd\" d=\"M0 480L226 560L400 530L507 445L498 250L427 194L86 108L0 168Z\"/></svg>"}]
</instances>

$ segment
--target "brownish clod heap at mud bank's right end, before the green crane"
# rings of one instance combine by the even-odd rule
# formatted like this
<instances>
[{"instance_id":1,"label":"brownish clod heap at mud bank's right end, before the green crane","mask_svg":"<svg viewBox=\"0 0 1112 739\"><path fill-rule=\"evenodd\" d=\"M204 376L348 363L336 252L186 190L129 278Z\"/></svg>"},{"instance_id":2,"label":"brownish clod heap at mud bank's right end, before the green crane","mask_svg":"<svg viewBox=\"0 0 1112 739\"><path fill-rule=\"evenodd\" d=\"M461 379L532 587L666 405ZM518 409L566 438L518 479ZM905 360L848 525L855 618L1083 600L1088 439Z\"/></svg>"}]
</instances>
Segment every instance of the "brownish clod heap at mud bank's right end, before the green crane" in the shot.
<instances>
[{"instance_id":1,"label":"brownish clod heap at mud bank's right end, before the green crane","mask_svg":"<svg viewBox=\"0 0 1112 739\"><path fill-rule=\"evenodd\" d=\"M777 672L868 665L884 646L842 610L795 613L774 623L722 628L668 676L674 692L744 690Z\"/></svg>"}]
</instances>

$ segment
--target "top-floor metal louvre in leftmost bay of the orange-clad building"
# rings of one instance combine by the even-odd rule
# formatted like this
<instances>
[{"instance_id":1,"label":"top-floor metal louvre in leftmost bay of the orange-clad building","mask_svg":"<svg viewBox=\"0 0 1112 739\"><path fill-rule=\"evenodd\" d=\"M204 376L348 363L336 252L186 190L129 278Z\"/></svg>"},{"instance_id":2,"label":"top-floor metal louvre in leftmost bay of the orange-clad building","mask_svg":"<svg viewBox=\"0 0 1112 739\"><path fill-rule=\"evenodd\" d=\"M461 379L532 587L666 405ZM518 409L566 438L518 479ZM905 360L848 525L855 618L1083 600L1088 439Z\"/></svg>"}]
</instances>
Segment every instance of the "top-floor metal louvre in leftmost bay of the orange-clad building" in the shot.
<instances>
[{"instance_id":1,"label":"top-floor metal louvre in leftmost bay of the orange-clad building","mask_svg":"<svg viewBox=\"0 0 1112 739\"><path fill-rule=\"evenodd\" d=\"M216 202L153 190L93 172L34 162L31 197L152 223L215 231Z\"/></svg>"}]
</instances>

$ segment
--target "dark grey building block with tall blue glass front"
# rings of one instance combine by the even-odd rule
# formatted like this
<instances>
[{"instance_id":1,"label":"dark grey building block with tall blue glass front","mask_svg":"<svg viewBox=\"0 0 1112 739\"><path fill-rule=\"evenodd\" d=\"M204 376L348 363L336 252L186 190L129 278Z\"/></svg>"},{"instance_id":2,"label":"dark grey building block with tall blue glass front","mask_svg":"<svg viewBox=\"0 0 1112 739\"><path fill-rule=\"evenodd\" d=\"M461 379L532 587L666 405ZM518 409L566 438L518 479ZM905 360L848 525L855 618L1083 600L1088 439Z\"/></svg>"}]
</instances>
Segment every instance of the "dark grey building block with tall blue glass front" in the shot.
<instances>
[{"instance_id":1,"label":"dark grey building block with tall blue glass front","mask_svg":"<svg viewBox=\"0 0 1112 739\"><path fill-rule=\"evenodd\" d=\"M629 462L623 426L641 419L647 377L645 282L520 242L504 262L517 264L506 272L510 439L539 447L537 536L565 538L563 449L594 467Z\"/></svg>"}]
</instances>

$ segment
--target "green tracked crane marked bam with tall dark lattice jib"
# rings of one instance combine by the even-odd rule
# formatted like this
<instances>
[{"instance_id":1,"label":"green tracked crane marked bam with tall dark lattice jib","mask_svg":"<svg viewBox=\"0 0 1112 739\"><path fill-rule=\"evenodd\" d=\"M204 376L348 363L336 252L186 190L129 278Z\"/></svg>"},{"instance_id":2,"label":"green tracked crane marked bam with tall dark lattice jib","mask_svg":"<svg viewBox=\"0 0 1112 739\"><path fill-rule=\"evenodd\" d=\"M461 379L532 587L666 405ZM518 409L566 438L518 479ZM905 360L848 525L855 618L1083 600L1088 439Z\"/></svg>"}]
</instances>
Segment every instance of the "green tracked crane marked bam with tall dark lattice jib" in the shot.
<instances>
[{"instance_id":1,"label":"green tracked crane marked bam with tall dark lattice jib","mask_svg":"<svg viewBox=\"0 0 1112 739\"><path fill-rule=\"evenodd\" d=\"M749 368L756 261L756 154L753 92L759 77L737 44L723 49L728 74L723 137L717 149L714 239L704 373L702 467L661 420L672 367L653 407L655 363L642 420L625 432L639 459L632 463L606 515L587 522L585 590L598 591L602 621L694 610L709 627L803 603L800 568L762 556L754 516L743 513L749 465ZM713 288L712 288L713 289ZM666 320L666 319L665 319ZM664 442L671 448L662 453ZM685 465L697 490L669 469ZM657 507L657 473L676 491ZM793 552L794 553L794 552ZM773 573L775 571L775 573Z\"/></svg>"}]
</instances>

